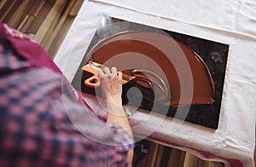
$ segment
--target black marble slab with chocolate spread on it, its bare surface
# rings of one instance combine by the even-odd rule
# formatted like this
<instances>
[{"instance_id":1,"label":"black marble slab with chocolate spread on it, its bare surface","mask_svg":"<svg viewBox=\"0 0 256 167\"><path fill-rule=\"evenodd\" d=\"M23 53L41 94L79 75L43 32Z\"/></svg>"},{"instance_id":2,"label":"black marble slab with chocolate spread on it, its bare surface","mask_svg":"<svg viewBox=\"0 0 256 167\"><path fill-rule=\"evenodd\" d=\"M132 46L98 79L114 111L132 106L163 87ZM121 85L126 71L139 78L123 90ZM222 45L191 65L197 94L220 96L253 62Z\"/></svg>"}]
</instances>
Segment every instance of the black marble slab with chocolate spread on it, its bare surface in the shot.
<instances>
[{"instance_id":1,"label":"black marble slab with chocolate spread on it, its bare surface","mask_svg":"<svg viewBox=\"0 0 256 167\"><path fill-rule=\"evenodd\" d=\"M229 45L225 43L218 43L218 42L203 39L200 37L192 37L186 34L163 30L160 28L152 27L152 26L137 24L127 20L119 20L117 18L113 18L109 16L104 16L96 30L96 33L94 34L90 42L90 45L86 53L84 53L84 59L81 61L79 70L76 72L73 78L73 82L72 82L73 86L76 89L94 94L94 90L86 89L86 88L84 89L83 86L81 87L81 80L86 78L86 76L83 76L80 69L82 66L84 66L86 62L86 59L87 59L86 55L89 52L89 50L103 38L111 36L118 32L125 32L125 31L145 31L145 32L157 32L164 35L168 34L170 37L173 37L175 40L185 44L190 49L194 50L201 57L201 59L204 60L204 62L206 63L208 69L212 74L212 79L215 84L215 96L214 96L215 102L213 104L206 104L206 105L191 105L189 106L189 108L181 107L178 110L179 113L177 113L177 107L169 107L166 116L184 119L185 121L188 121L190 123L200 124L202 126L205 126L214 130L218 129L218 119L219 119L223 88L224 88L226 62L227 62L228 53L229 53ZM132 86L135 86L138 88L140 87L140 85L137 85L136 83L131 83L128 86L126 86L127 88L125 89L129 89ZM151 94L154 94L154 92L150 92L150 90L143 89L143 88L139 88L139 89L142 89L144 92L147 92L148 96L150 96ZM125 101L125 96L123 98ZM142 103L143 103L142 107L144 109L151 111L152 104L150 103L150 101L148 102L147 100L145 100ZM162 107L161 105L162 104L157 104L156 109L152 112L160 112ZM189 110L188 113L186 112L187 110ZM184 114L186 115L185 118L183 118Z\"/></svg>"}]
</instances>

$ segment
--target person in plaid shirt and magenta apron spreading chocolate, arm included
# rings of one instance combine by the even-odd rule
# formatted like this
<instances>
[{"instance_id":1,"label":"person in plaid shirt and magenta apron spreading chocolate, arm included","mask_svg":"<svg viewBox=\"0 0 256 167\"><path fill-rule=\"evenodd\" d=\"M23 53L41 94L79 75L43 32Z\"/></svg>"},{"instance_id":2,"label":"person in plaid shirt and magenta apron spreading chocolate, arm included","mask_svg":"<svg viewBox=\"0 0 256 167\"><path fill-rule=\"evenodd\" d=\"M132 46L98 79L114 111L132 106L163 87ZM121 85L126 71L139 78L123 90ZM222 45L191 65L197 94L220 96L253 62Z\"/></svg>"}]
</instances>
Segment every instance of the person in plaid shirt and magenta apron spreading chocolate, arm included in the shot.
<instances>
[{"instance_id":1,"label":"person in plaid shirt and magenta apron spreading chocolate, arm included","mask_svg":"<svg viewBox=\"0 0 256 167\"><path fill-rule=\"evenodd\" d=\"M122 73L104 68L99 76L107 122L38 43L0 23L0 166L131 166Z\"/></svg>"}]
</instances>

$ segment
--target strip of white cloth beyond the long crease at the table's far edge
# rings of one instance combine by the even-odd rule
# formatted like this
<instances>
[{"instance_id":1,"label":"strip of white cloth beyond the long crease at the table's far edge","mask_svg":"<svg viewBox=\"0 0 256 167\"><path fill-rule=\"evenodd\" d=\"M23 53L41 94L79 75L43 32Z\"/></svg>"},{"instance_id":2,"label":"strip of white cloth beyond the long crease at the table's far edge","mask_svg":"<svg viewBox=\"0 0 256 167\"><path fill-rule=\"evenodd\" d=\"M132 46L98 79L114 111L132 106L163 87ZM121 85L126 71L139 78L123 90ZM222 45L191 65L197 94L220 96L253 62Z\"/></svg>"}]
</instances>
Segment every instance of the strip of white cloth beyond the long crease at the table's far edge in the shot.
<instances>
[{"instance_id":1,"label":"strip of white cloth beyond the long crease at the table's far edge","mask_svg":"<svg viewBox=\"0 0 256 167\"><path fill-rule=\"evenodd\" d=\"M178 20L190 25L238 32L256 37L256 2L254 0L158 0L148 3L127 0L92 0L109 3L144 14ZM254 24L253 24L254 23Z\"/></svg>"}]
</instances>

